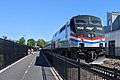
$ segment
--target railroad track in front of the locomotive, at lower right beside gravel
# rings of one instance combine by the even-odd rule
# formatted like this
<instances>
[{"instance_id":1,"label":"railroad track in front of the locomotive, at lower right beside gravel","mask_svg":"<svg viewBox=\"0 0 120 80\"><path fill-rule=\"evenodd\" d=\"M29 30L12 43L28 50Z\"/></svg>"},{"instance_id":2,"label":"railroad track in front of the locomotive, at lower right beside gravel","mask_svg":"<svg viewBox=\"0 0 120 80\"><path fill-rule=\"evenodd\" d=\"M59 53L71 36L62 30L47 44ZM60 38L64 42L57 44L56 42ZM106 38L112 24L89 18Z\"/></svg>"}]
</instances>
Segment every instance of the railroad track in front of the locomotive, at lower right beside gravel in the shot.
<instances>
[{"instance_id":1,"label":"railroad track in front of the locomotive, at lower right beside gravel","mask_svg":"<svg viewBox=\"0 0 120 80\"><path fill-rule=\"evenodd\" d=\"M82 68L86 68L88 71L101 76L105 80L120 80L120 71L116 68L108 68L97 64L81 65Z\"/></svg>"}]
</instances>

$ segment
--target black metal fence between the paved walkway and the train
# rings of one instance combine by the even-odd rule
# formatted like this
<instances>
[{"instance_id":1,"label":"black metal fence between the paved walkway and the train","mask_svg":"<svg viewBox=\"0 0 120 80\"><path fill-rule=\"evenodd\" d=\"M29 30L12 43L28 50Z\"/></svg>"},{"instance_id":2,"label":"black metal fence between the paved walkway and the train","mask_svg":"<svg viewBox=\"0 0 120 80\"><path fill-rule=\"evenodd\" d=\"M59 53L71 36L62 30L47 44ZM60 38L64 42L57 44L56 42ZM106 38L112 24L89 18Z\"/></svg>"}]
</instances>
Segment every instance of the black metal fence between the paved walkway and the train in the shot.
<instances>
[{"instance_id":1,"label":"black metal fence between the paved walkway and the train","mask_svg":"<svg viewBox=\"0 0 120 80\"><path fill-rule=\"evenodd\" d=\"M63 80L120 80L120 71L100 65L83 64L75 60L44 51L43 53Z\"/></svg>"}]
</instances>

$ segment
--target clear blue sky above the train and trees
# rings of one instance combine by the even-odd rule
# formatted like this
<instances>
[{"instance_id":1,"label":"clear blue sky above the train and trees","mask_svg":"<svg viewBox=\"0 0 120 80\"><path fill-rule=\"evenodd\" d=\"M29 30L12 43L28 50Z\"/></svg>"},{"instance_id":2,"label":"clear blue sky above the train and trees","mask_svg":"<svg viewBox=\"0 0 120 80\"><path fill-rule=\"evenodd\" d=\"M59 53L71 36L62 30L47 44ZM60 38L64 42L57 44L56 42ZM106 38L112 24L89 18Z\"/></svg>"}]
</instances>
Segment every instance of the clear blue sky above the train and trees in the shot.
<instances>
[{"instance_id":1,"label":"clear blue sky above the train and trees","mask_svg":"<svg viewBox=\"0 0 120 80\"><path fill-rule=\"evenodd\" d=\"M73 16L98 16L106 25L112 11L120 12L120 0L0 0L0 38L49 41Z\"/></svg>"}]
</instances>

